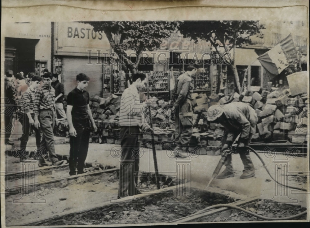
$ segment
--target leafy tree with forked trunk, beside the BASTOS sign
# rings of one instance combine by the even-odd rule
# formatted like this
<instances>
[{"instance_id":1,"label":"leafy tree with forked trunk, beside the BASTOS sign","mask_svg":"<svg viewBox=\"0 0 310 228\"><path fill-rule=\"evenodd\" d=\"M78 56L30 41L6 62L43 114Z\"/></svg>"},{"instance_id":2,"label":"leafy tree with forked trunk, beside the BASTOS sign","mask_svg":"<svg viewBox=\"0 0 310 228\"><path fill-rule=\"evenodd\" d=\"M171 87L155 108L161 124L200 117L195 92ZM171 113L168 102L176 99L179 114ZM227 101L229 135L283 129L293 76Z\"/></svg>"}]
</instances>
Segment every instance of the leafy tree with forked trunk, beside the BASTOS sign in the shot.
<instances>
[{"instance_id":1,"label":"leafy tree with forked trunk, beside the BASTOS sign","mask_svg":"<svg viewBox=\"0 0 310 228\"><path fill-rule=\"evenodd\" d=\"M174 21L97 21L84 22L91 24L95 32L102 31L122 63L126 73L137 71L140 53L153 51L162 44L162 39L168 38L174 32L179 22ZM134 50L135 63L131 62L126 50Z\"/></svg>"}]
</instances>

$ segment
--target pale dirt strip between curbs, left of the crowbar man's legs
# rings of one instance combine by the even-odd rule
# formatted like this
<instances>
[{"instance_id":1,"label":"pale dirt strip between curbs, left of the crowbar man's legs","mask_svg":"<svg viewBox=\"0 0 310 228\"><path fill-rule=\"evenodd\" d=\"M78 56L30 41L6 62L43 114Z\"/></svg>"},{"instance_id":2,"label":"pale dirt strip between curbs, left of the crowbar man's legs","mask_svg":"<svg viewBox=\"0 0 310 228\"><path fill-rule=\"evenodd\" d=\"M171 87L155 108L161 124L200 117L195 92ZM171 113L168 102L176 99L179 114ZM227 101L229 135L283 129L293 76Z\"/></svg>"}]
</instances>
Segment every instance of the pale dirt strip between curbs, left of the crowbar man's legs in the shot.
<instances>
[{"instance_id":1,"label":"pale dirt strip between curbs, left of the crowbar man's legs","mask_svg":"<svg viewBox=\"0 0 310 228\"><path fill-rule=\"evenodd\" d=\"M108 180L109 179L109 180ZM75 181L71 184L71 181ZM85 206L97 205L103 201L116 199L118 181L112 174L95 176L93 181L86 181L85 177L76 180L64 180L55 187L38 187L36 194L26 194L23 200L33 203L14 203L20 199L21 194L11 195L6 198L6 224L16 226L19 224L39 220L43 217L53 216L56 213L69 211L70 209L85 208ZM45 203L38 203L44 199ZM41 201L42 202L42 201Z\"/></svg>"}]
</instances>

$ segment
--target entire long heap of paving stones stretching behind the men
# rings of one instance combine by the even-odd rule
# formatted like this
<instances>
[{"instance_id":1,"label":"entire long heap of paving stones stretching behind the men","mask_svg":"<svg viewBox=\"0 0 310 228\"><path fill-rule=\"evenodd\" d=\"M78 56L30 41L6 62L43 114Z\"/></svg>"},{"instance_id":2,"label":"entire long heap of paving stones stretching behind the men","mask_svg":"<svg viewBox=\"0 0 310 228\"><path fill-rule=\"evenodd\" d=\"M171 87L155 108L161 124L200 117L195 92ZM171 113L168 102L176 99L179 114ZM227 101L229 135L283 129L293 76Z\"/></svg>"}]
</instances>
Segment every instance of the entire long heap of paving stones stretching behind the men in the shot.
<instances>
[{"instance_id":1,"label":"entire long heap of paving stones stretching behind the men","mask_svg":"<svg viewBox=\"0 0 310 228\"><path fill-rule=\"evenodd\" d=\"M92 133L90 142L96 143L120 143L119 110L120 97L109 95L106 98L90 96L90 107L97 125L98 131ZM292 96L290 90L269 90L251 86L248 91L239 95L234 93L226 96L223 93L194 93L193 108L193 135L190 142L192 146L198 146L200 154L219 154L221 137L224 134L222 125L208 123L206 113L214 104L227 104L231 102L244 102L255 109L259 118L257 130L253 141L289 140L302 142L306 140L305 134L308 124L307 105L309 102L306 93ZM171 140L175 131L174 121L171 120L171 107L162 99L151 97L149 100L150 113L154 129L155 147L167 148L171 144L161 146L163 141ZM149 117L147 117L149 118ZM69 137L69 125L66 120L61 120L55 130L55 135ZM142 146L150 146L150 134L144 132ZM218 138L216 138L218 137ZM216 138L216 139L215 139Z\"/></svg>"}]
</instances>

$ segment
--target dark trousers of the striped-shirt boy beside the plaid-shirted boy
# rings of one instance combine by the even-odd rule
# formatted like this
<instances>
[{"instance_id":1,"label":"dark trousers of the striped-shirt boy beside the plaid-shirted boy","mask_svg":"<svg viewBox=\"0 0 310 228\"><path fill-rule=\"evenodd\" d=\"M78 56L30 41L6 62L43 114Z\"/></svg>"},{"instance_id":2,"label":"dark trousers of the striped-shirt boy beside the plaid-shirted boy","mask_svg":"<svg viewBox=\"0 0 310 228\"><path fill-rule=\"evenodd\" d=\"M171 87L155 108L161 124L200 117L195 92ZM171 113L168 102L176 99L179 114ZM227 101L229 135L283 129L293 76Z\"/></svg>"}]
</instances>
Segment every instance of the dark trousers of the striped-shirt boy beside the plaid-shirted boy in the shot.
<instances>
[{"instance_id":1,"label":"dark trousers of the striped-shirt boy beside the plaid-shirted boy","mask_svg":"<svg viewBox=\"0 0 310 228\"><path fill-rule=\"evenodd\" d=\"M33 118L33 116L32 116L32 118ZM21 113L19 121L20 121L22 128L23 128L23 135L20 137L20 149L22 149L24 151L26 150L27 142L29 140L30 130L32 129L35 133L36 146L37 146L37 150L38 150L39 146L40 146L40 141L41 141L40 129L35 128L34 125L30 126L29 118L28 118L27 114L25 114L25 113Z\"/></svg>"}]
</instances>

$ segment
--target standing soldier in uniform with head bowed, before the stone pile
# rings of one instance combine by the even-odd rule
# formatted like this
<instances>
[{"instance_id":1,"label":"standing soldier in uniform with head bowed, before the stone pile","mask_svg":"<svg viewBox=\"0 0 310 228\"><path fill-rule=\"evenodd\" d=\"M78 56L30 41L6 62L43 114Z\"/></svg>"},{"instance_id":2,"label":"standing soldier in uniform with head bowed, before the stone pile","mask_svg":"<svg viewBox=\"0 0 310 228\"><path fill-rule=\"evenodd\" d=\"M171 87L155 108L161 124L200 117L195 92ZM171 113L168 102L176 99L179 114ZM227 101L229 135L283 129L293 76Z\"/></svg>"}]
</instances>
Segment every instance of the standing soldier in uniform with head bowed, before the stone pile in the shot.
<instances>
[{"instance_id":1,"label":"standing soldier in uniform with head bowed, before the stone pile","mask_svg":"<svg viewBox=\"0 0 310 228\"><path fill-rule=\"evenodd\" d=\"M174 144L177 156L180 158L187 157L186 151L182 150L183 146L187 146L193 132L193 111L192 111L192 93L193 82L192 76L196 74L198 69L197 65L189 65L187 71L181 74L175 87L175 103L174 106L177 110L175 118L175 139Z\"/></svg>"}]
</instances>

